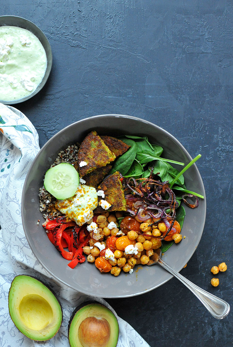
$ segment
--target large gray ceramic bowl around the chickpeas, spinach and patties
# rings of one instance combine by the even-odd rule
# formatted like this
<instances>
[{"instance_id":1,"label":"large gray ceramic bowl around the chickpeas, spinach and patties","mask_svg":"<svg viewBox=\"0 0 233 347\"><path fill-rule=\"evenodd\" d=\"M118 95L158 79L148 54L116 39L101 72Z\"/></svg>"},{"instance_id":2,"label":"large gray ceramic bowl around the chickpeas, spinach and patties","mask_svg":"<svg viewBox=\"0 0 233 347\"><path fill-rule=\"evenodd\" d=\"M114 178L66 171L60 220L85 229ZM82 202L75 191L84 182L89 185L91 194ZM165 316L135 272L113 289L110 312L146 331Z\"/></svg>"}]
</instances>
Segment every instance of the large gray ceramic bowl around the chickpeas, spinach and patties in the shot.
<instances>
[{"instance_id":1,"label":"large gray ceramic bowl around the chickpeas, spinach and patties","mask_svg":"<svg viewBox=\"0 0 233 347\"><path fill-rule=\"evenodd\" d=\"M130 116L102 115L80 120L60 130L42 147L28 171L22 197L22 220L25 235L33 253L43 267L56 279L68 287L82 293L105 298L130 297L146 293L161 286L172 278L160 266L140 266L132 274L120 273L114 277L109 273L100 273L94 264L85 261L73 270L57 249L49 242L42 227L43 216L39 209L39 188L43 186L45 172L49 169L57 154L69 144L81 142L91 130L98 134L111 136L131 134L148 136L149 141L164 148L164 157L187 164L192 160L189 153L172 135L160 127ZM205 196L202 179L194 164L185 172L186 186L194 192ZM185 206L186 216L182 235L186 238L179 244L174 244L163 256L163 259L177 271L189 261L197 248L205 224L206 202L199 201L196 209ZM40 219L40 224L36 222ZM41 247L43 245L43 247ZM136 268L135 268L136 269Z\"/></svg>"}]
</instances>

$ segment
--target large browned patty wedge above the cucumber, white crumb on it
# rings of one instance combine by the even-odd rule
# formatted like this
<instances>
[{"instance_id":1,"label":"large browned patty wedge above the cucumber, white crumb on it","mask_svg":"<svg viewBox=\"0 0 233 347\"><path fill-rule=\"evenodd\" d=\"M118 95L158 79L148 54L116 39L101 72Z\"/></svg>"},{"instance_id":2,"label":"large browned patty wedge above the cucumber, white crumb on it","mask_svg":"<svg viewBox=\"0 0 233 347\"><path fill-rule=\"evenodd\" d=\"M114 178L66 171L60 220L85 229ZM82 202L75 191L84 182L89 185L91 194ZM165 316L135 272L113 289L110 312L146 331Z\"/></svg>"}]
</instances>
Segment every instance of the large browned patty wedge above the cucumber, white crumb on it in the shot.
<instances>
[{"instance_id":1,"label":"large browned patty wedge above the cucumber, white crumb on it","mask_svg":"<svg viewBox=\"0 0 233 347\"><path fill-rule=\"evenodd\" d=\"M80 176L114 161L116 156L110 151L97 132L92 131L83 140L78 150L78 171Z\"/></svg>"}]
</instances>

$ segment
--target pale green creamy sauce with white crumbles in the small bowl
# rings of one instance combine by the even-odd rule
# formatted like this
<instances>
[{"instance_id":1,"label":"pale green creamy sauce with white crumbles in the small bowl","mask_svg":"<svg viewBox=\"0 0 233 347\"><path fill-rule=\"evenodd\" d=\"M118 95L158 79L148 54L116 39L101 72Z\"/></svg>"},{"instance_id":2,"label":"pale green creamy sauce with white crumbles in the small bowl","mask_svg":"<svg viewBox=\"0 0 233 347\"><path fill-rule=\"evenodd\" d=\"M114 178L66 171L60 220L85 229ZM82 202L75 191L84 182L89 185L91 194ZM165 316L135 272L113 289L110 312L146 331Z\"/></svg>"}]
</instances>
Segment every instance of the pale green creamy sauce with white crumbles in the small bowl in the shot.
<instances>
[{"instance_id":1,"label":"pale green creamy sauce with white crumbles in the small bowl","mask_svg":"<svg viewBox=\"0 0 233 347\"><path fill-rule=\"evenodd\" d=\"M38 37L23 28L0 26L0 100L32 94L46 68L46 53Z\"/></svg>"}]
</instances>

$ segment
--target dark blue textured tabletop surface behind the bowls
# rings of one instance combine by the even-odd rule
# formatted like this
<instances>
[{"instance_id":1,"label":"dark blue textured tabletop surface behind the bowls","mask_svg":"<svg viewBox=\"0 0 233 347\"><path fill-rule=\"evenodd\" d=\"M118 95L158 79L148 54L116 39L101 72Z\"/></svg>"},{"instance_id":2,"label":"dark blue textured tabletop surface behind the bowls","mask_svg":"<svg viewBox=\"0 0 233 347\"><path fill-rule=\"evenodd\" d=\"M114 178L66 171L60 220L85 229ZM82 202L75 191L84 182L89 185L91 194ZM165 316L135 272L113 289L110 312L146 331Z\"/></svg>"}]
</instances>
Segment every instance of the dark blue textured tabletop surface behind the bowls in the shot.
<instances>
[{"instance_id":1,"label":"dark blue textured tabletop surface behind the bowls","mask_svg":"<svg viewBox=\"0 0 233 347\"><path fill-rule=\"evenodd\" d=\"M154 122L192 157L202 154L206 225L181 273L232 304L233 2L1 0L0 15L31 20L51 44L47 84L16 105L41 146L76 120L118 113ZM214 288L210 268L222 261L228 269ZM151 347L233 345L232 312L215 320L174 278L107 301Z\"/></svg>"}]
</instances>

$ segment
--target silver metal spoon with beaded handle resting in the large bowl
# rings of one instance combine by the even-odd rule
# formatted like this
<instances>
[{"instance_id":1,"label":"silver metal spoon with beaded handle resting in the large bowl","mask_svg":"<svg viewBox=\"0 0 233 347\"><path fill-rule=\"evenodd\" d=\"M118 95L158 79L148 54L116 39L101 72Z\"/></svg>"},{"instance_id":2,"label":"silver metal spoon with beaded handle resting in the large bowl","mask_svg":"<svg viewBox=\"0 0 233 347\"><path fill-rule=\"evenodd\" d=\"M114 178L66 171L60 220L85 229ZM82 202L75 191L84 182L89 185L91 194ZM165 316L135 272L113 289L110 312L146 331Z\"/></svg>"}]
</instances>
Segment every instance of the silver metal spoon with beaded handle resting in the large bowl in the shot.
<instances>
[{"instance_id":1,"label":"silver metal spoon with beaded handle resting in the large bowl","mask_svg":"<svg viewBox=\"0 0 233 347\"><path fill-rule=\"evenodd\" d=\"M166 264L161 259L161 251L160 249L156 250L158 253L154 253L150 257L150 261L147 265L151 266L154 264L161 265L164 269L173 274L176 278L178 278L186 287L188 287L193 294L202 302L204 306L206 306L207 310L214 316L216 319L223 319L226 317L230 311L230 305L224 300L218 298L217 296L208 293L196 286L191 281L187 280L184 276L178 273L176 270L171 268L168 264Z\"/></svg>"}]
</instances>

